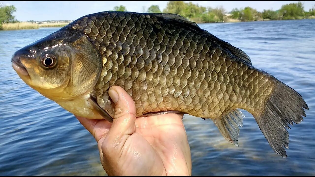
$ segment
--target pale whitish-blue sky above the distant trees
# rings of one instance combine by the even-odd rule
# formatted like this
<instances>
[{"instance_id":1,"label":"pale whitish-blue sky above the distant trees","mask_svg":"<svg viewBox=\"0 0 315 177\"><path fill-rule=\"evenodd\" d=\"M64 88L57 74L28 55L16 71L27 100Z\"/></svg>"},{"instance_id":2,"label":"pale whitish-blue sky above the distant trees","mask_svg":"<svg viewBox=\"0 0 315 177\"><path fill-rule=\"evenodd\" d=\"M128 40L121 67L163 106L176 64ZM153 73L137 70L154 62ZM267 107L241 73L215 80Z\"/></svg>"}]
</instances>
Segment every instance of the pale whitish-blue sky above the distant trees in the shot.
<instances>
[{"instance_id":1,"label":"pale whitish-blue sky above the distant trees","mask_svg":"<svg viewBox=\"0 0 315 177\"><path fill-rule=\"evenodd\" d=\"M187 1L188 2L188 1ZM227 12L233 8L252 7L258 11L264 9L278 10L283 4L298 1L192 1L206 7L223 6ZM35 20L76 20L84 15L112 10L114 6L123 5L131 12L143 12L151 5L158 5L161 10L166 7L167 1L0 1L3 5L14 5L14 13L19 21ZM315 1L302 1L304 10L309 10Z\"/></svg>"}]
</instances>

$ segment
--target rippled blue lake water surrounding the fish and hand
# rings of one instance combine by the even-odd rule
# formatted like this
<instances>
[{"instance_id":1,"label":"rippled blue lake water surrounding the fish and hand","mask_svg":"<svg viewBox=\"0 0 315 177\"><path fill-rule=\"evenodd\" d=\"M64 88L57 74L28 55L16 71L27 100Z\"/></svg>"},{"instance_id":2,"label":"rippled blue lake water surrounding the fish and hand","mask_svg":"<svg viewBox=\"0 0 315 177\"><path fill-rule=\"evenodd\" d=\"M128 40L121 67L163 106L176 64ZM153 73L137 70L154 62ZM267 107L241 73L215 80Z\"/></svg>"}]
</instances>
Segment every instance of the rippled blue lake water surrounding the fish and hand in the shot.
<instances>
[{"instance_id":1,"label":"rippled blue lake water surrounding the fish and hand","mask_svg":"<svg viewBox=\"0 0 315 177\"><path fill-rule=\"evenodd\" d=\"M246 111L239 147L211 120L184 116L192 175L315 175L315 20L200 24L254 66L299 92L310 110L291 126L288 158L274 153ZM0 31L0 175L104 175L97 144L77 119L27 86L12 54L58 28Z\"/></svg>"}]
</instances>

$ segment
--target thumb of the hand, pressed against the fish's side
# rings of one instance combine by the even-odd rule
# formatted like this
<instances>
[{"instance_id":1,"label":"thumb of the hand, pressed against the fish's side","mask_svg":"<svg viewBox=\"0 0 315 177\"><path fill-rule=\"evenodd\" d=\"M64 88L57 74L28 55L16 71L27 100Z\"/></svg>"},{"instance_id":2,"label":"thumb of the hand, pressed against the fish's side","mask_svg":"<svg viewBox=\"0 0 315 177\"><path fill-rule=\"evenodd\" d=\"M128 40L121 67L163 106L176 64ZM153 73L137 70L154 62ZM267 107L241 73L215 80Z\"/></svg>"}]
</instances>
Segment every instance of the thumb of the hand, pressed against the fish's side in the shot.
<instances>
[{"instance_id":1,"label":"thumb of the hand, pressed against the fish's side","mask_svg":"<svg viewBox=\"0 0 315 177\"><path fill-rule=\"evenodd\" d=\"M112 86L108 91L115 103L115 116L106 136L106 141L114 146L123 145L127 138L135 132L135 103L129 94L119 86Z\"/></svg>"}]
</instances>

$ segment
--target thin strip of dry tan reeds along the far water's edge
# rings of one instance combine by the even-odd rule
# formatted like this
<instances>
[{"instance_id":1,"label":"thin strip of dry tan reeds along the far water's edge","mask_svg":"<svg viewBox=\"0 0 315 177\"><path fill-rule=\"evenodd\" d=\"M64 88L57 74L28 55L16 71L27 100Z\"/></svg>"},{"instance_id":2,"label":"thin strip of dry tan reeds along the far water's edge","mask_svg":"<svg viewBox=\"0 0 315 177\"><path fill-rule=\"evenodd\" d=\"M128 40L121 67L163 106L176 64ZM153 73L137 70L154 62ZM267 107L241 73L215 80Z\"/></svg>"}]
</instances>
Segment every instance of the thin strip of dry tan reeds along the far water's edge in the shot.
<instances>
[{"instance_id":1,"label":"thin strip of dry tan reeds along the far water's edge","mask_svg":"<svg viewBox=\"0 0 315 177\"><path fill-rule=\"evenodd\" d=\"M315 19L315 17L312 18L302 18L302 19L285 19L285 20L312 20ZM270 19L262 19L262 20L256 20L256 21L282 21L282 20L270 20ZM238 19L227 19L226 21L220 21L220 22L210 22L210 23L241 23L241 22L255 22L255 21L241 21ZM51 27L64 27L68 25L69 23L31 23L31 22L19 22L19 23L7 23L2 24L3 29L0 31L11 31L11 30L35 30L39 28L51 28ZM197 24L205 24L205 23L197 23Z\"/></svg>"}]
</instances>

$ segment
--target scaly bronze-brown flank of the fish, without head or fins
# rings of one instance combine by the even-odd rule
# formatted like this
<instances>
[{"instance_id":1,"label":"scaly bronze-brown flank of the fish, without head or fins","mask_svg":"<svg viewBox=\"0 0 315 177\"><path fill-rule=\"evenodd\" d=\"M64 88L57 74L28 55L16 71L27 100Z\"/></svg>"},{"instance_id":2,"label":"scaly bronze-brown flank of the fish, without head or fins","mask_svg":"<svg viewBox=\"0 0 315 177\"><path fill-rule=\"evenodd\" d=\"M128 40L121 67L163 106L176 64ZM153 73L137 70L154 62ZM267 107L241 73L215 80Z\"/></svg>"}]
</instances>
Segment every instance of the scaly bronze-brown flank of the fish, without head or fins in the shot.
<instances>
[{"instance_id":1,"label":"scaly bronze-brown flank of the fish, without head or fins","mask_svg":"<svg viewBox=\"0 0 315 177\"><path fill-rule=\"evenodd\" d=\"M134 99L137 116L171 110L215 118L235 107L260 111L264 105L256 103L268 99L273 88L267 84L261 90L268 83L263 79L255 83L259 88L250 89L254 80L263 78L251 74L254 67L248 68L229 50L201 34L155 16L105 12L76 23L101 49L104 59L96 85L101 107L108 101L102 99L106 90L118 85ZM108 49L110 52L105 52ZM238 85L235 80L248 84ZM246 92L249 90L251 93ZM264 94L256 94L258 91ZM245 92L248 95L244 97L241 93Z\"/></svg>"}]
</instances>

